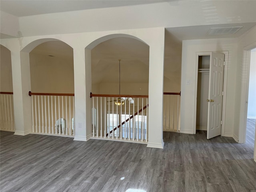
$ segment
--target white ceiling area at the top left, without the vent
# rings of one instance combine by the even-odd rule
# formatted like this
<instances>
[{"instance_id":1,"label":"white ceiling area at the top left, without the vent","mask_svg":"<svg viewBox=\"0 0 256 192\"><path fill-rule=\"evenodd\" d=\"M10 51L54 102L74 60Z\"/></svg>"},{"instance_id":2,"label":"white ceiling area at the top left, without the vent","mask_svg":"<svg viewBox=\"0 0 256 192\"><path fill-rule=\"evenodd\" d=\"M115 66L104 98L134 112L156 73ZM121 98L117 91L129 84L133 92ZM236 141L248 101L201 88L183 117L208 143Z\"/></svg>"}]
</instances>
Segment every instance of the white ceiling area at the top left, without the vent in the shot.
<instances>
[{"instance_id":1,"label":"white ceiling area at the top left, without the vent","mask_svg":"<svg viewBox=\"0 0 256 192\"><path fill-rule=\"evenodd\" d=\"M1 0L0 10L23 17L97 8L151 4L166 0Z\"/></svg>"}]
</instances>

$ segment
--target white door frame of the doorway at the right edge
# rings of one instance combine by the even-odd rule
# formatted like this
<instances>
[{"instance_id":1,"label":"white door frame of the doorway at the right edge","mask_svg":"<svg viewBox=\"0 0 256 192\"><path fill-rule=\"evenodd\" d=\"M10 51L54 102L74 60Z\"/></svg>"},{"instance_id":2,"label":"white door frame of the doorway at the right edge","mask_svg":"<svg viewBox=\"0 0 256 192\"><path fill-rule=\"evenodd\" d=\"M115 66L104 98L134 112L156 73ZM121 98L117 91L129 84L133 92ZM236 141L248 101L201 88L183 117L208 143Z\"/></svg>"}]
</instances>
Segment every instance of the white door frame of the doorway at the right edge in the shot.
<instances>
[{"instance_id":1,"label":"white door frame of the doorway at the right edge","mask_svg":"<svg viewBox=\"0 0 256 192\"><path fill-rule=\"evenodd\" d=\"M242 85L241 85L241 100L240 100L240 121L238 143L245 143L246 140L246 120L248 108L248 92L249 92L249 76L250 76L250 56L251 50L256 48L256 42L244 46L244 55L242 63ZM256 141L255 141L256 142ZM256 153L254 144L254 154Z\"/></svg>"}]
</instances>

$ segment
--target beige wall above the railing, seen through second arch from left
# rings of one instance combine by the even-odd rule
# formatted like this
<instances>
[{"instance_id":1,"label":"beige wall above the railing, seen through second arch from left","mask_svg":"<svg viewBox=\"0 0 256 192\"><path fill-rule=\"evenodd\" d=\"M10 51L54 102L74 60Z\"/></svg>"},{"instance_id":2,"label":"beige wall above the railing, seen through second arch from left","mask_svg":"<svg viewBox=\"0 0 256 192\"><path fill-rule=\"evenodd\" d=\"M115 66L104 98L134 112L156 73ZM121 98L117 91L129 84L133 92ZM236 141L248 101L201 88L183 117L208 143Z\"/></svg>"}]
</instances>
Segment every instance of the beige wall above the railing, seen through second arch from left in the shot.
<instances>
[{"instance_id":1,"label":"beige wall above the railing, seen through second arch from left","mask_svg":"<svg viewBox=\"0 0 256 192\"><path fill-rule=\"evenodd\" d=\"M30 52L31 92L74 93L73 58Z\"/></svg>"}]
</instances>

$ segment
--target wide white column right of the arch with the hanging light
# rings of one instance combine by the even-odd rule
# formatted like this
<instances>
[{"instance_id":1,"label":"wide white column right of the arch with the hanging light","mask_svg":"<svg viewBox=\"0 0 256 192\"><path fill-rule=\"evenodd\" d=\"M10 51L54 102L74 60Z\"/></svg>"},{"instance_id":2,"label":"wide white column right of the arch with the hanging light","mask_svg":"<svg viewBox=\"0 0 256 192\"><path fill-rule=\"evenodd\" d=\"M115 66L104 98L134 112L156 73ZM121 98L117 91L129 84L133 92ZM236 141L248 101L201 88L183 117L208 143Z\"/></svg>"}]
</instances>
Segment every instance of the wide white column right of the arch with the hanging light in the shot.
<instances>
[{"instance_id":1,"label":"wide white column right of the arch with the hanging light","mask_svg":"<svg viewBox=\"0 0 256 192\"><path fill-rule=\"evenodd\" d=\"M152 34L149 47L148 145L163 148L164 29Z\"/></svg>"}]
</instances>

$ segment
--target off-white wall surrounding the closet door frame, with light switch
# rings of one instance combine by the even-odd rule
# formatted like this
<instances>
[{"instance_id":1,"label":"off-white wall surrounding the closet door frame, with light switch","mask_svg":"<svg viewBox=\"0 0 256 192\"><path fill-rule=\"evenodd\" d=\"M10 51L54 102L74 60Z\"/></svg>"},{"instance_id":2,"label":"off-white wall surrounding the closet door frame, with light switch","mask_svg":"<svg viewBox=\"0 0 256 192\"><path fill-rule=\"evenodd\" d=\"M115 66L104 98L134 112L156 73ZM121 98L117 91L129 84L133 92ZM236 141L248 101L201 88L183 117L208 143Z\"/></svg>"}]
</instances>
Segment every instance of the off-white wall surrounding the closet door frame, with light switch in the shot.
<instances>
[{"instance_id":1,"label":"off-white wall surrounding the closet door frame, with light switch","mask_svg":"<svg viewBox=\"0 0 256 192\"><path fill-rule=\"evenodd\" d=\"M234 106L236 90L236 53L237 39L204 39L185 40L182 42L181 72L181 119L180 132L194 133L196 111L196 52L228 51L227 90L226 90L226 121L224 136L233 136ZM227 58L226 58L227 59ZM186 85L186 80L190 84Z\"/></svg>"}]
</instances>

